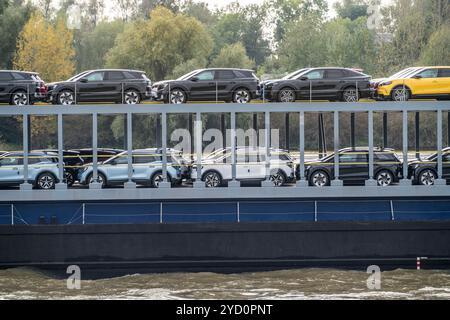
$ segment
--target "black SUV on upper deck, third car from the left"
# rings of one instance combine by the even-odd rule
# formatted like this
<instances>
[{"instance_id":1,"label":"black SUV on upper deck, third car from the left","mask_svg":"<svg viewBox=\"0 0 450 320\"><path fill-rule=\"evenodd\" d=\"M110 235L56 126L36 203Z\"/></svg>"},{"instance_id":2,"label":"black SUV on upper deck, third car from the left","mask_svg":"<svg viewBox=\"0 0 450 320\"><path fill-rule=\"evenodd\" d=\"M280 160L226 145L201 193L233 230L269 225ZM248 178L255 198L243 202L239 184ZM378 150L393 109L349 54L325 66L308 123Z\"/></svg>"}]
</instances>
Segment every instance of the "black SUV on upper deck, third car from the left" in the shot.
<instances>
[{"instance_id":1,"label":"black SUV on upper deck, third car from the left","mask_svg":"<svg viewBox=\"0 0 450 320\"><path fill-rule=\"evenodd\" d=\"M157 101L182 104L187 101L249 103L259 95L259 79L252 70L201 69L177 80L157 82L152 96Z\"/></svg>"}]
</instances>

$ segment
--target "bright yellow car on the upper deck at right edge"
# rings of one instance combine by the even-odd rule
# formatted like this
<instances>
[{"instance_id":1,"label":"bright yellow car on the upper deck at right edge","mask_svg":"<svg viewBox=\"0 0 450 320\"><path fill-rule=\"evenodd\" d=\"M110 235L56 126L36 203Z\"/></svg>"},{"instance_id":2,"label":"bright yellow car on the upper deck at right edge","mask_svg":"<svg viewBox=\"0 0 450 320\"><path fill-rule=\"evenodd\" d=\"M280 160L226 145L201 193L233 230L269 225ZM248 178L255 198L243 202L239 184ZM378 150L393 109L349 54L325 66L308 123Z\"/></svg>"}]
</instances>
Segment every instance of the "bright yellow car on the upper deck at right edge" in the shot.
<instances>
[{"instance_id":1,"label":"bright yellow car on the upper deck at right edge","mask_svg":"<svg viewBox=\"0 0 450 320\"><path fill-rule=\"evenodd\" d=\"M450 67L423 67L379 84L383 100L408 101L412 98L450 100Z\"/></svg>"}]
</instances>

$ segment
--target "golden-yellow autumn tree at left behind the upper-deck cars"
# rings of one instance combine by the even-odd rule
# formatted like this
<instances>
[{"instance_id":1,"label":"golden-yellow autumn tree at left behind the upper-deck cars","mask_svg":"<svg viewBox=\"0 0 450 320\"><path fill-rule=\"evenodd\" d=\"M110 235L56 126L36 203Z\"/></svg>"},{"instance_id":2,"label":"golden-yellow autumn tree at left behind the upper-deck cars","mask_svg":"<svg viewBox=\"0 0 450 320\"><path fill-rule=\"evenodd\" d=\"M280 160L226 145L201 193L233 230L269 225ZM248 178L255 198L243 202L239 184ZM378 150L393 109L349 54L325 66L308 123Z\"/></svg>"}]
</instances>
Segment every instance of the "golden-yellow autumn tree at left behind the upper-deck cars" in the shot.
<instances>
[{"instance_id":1,"label":"golden-yellow autumn tree at left behind the upper-deck cars","mask_svg":"<svg viewBox=\"0 0 450 320\"><path fill-rule=\"evenodd\" d=\"M14 67L39 72L46 81L57 81L73 75L74 55L73 35L64 20L53 26L40 13L34 13L19 35Z\"/></svg>"}]
</instances>

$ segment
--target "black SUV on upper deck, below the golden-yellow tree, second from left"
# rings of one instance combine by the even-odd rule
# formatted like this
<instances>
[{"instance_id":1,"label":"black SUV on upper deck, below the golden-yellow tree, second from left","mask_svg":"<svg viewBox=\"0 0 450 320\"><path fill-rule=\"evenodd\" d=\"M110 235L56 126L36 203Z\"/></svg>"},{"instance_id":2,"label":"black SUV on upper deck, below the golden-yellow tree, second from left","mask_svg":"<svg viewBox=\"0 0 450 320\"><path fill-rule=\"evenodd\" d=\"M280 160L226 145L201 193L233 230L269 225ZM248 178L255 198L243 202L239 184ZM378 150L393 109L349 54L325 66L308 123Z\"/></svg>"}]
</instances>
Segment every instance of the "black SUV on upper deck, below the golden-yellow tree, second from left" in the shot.
<instances>
[{"instance_id":1,"label":"black SUV on upper deck, below the golden-yellow tree, second from left","mask_svg":"<svg viewBox=\"0 0 450 320\"><path fill-rule=\"evenodd\" d=\"M48 84L48 100L53 104L115 102L139 104L151 96L151 81L143 71L91 70L67 81Z\"/></svg>"}]
</instances>

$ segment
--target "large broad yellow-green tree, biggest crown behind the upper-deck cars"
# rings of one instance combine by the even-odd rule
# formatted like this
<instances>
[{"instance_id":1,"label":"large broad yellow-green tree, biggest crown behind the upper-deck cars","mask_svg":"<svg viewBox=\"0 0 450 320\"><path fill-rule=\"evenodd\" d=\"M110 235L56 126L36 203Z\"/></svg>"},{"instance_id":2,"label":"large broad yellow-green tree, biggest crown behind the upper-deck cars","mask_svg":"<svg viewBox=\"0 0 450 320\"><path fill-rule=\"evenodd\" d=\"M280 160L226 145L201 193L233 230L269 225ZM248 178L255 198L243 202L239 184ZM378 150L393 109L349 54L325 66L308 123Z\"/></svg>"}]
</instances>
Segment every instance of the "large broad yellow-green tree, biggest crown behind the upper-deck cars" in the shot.
<instances>
[{"instance_id":1,"label":"large broad yellow-green tree, biggest crown behind the upper-deck cars","mask_svg":"<svg viewBox=\"0 0 450 320\"><path fill-rule=\"evenodd\" d=\"M150 20L138 20L119 34L107 55L107 66L145 70L161 80L175 66L194 58L206 58L212 39L198 20L158 7Z\"/></svg>"}]
</instances>

